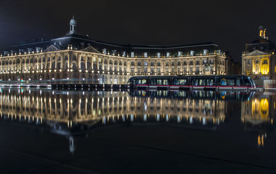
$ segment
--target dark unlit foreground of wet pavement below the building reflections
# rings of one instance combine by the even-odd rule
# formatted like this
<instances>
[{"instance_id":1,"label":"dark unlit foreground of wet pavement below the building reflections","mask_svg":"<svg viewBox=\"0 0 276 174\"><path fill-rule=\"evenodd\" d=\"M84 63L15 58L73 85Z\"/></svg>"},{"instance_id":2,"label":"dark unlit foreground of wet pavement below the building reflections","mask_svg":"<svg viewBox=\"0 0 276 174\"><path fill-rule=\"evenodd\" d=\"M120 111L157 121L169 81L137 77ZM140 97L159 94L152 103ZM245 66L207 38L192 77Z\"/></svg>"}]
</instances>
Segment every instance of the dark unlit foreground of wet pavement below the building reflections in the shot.
<instances>
[{"instance_id":1,"label":"dark unlit foreground of wet pavement below the building reflections","mask_svg":"<svg viewBox=\"0 0 276 174\"><path fill-rule=\"evenodd\" d=\"M228 123L215 129L134 124L69 137L0 122L1 173L276 173L274 131L257 135Z\"/></svg>"}]
</instances>

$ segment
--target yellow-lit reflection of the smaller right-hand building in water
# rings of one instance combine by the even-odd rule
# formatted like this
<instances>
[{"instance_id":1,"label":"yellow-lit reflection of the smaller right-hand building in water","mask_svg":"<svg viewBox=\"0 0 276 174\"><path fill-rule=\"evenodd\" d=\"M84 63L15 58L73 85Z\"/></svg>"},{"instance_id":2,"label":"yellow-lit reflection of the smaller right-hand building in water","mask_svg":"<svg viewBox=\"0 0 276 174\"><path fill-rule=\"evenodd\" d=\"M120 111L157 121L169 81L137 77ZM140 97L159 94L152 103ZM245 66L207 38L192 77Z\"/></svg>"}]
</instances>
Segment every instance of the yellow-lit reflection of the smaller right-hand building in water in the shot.
<instances>
[{"instance_id":1,"label":"yellow-lit reflection of the smaller right-hand building in water","mask_svg":"<svg viewBox=\"0 0 276 174\"><path fill-rule=\"evenodd\" d=\"M264 138L273 127L275 119L275 94L258 93L242 102L242 123L246 131L257 134L257 146L264 146Z\"/></svg>"}]
</instances>

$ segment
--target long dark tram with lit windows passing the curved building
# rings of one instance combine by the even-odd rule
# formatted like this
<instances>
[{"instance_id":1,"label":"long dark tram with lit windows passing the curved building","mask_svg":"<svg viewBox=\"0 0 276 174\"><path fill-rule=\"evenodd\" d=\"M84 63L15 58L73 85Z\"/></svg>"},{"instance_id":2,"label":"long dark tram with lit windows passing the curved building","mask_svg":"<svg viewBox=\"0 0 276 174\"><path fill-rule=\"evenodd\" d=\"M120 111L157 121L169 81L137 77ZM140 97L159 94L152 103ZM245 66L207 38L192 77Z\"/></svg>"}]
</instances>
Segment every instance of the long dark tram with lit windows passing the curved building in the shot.
<instances>
[{"instance_id":1,"label":"long dark tram with lit windows passing the curved building","mask_svg":"<svg viewBox=\"0 0 276 174\"><path fill-rule=\"evenodd\" d=\"M149 90L256 90L246 75L135 76L128 79L130 89Z\"/></svg>"}]
</instances>

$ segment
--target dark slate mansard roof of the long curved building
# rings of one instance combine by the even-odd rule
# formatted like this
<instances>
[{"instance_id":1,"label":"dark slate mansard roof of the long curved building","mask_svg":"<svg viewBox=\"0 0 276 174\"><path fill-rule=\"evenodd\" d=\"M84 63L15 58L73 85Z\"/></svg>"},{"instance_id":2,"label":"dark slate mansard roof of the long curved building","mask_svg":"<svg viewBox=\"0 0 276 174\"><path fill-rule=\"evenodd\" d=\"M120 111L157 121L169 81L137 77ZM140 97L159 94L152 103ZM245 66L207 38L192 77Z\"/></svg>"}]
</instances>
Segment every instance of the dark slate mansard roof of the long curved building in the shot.
<instances>
[{"instance_id":1,"label":"dark slate mansard roof of the long curved building","mask_svg":"<svg viewBox=\"0 0 276 174\"><path fill-rule=\"evenodd\" d=\"M135 55L140 57L144 52L148 53L148 56L154 57L157 52L160 52L161 56L165 55L166 52L170 52L171 57L176 57L179 52L183 55L188 55L190 51L194 51L194 55L201 55L204 50L213 54L215 51L219 50L218 46L215 43L195 43L188 45L176 45L176 46L156 46L156 45L147 45L147 46L135 46L135 45L119 45L114 43L107 43L103 41L95 41L90 39L88 36L79 35L78 33L63 35L56 39L51 39L48 41L37 41L33 43L25 43L17 46L12 46L10 50L19 51L26 50L28 48L36 50L37 48L42 48L46 50L50 46L55 46L60 50L68 49L68 45L72 46L73 50L83 50L92 46L98 52L103 53L103 50L106 50L106 53L115 54L119 53L120 55L124 52L126 55L130 55L130 52L135 52Z\"/></svg>"}]
</instances>

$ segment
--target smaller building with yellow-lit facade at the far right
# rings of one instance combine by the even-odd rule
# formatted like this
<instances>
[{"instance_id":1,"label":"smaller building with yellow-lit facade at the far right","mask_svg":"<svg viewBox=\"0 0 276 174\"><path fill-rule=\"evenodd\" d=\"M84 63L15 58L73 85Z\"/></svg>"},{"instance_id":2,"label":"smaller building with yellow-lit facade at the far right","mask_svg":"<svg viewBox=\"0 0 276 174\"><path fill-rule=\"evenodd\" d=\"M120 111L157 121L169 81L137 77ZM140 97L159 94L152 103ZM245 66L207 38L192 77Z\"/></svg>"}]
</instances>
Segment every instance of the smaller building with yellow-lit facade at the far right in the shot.
<instances>
[{"instance_id":1,"label":"smaller building with yellow-lit facade at the far right","mask_svg":"<svg viewBox=\"0 0 276 174\"><path fill-rule=\"evenodd\" d=\"M242 53L242 74L253 79L275 79L275 45L266 36L266 28L259 27L259 39L246 43Z\"/></svg>"}]
</instances>

